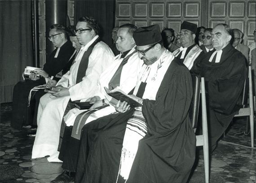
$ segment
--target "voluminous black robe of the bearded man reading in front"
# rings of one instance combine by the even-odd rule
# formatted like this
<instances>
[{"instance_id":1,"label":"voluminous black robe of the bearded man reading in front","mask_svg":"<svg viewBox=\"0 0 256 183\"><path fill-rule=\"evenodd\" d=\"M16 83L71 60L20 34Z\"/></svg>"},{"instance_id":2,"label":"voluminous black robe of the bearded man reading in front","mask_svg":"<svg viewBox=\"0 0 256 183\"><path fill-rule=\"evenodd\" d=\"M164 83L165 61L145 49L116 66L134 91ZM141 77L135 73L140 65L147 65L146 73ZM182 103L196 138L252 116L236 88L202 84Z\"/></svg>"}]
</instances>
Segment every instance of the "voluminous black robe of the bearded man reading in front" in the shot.
<instances>
[{"instance_id":1,"label":"voluminous black robe of the bearded man reading in front","mask_svg":"<svg viewBox=\"0 0 256 183\"><path fill-rule=\"evenodd\" d=\"M148 132L140 140L127 182L185 183L194 164L196 139L189 119L189 70L179 59L170 64L156 100L143 100ZM126 124L133 109L86 124L80 140L75 183L114 183ZM119 176L120 177L120 176ZM121 178L119 183L124 182Z\"/></svg>"}]
</instances>

